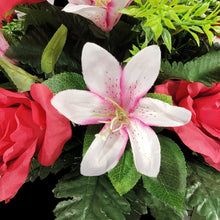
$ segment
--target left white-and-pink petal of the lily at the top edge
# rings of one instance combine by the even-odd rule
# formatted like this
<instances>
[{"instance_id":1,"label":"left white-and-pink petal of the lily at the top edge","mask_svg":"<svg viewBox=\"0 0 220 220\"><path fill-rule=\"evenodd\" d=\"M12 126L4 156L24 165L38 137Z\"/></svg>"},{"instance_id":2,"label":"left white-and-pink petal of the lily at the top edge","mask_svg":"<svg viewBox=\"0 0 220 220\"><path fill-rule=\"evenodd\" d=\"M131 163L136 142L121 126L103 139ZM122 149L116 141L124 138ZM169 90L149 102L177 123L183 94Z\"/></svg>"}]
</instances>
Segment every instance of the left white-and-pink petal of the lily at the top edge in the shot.
<instances>
[{"instance_id":1,"label":"left white-and-pink petal of the lily at the top edge","mask_svg":"<svg viewBox=\"0 0 220 220\"><path fill-rule=\"evenodd\" d=\"M75 5L69 3L63 8L63 11L73 14L78 14L91 20L102 30L107 27L106 24L106 9L91 5Z\"/></svg>"}]
</instances>

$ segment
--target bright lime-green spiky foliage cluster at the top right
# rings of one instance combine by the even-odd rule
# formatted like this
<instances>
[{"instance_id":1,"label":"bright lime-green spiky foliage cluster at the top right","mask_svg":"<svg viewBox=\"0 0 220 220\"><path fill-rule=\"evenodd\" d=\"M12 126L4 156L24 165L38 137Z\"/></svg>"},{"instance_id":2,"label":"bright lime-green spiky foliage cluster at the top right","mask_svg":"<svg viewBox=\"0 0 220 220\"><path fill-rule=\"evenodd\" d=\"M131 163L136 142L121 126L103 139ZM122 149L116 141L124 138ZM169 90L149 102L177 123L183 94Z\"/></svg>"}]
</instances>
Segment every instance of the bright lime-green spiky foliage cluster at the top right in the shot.
<instances>
[{"instance_id":1,"label":"bright lime-green spiky foliage cluster at the top right","mask_svg":"<svg viewBox=\"0 0 220 220\"><path fill-rule=\"evenodd\" d=\"M199 35L205 34L209 44L212 44L214 34L219 33L216 26L220 12L220 5L216 2L215 8L209 2L198 0L134 0L133 4L121 12L141 20L141 28L145 33L145 44L151 40L166 45L172 49L172 36L181 31L189 32L200 44Z\"/></svg>"}]
</instances>

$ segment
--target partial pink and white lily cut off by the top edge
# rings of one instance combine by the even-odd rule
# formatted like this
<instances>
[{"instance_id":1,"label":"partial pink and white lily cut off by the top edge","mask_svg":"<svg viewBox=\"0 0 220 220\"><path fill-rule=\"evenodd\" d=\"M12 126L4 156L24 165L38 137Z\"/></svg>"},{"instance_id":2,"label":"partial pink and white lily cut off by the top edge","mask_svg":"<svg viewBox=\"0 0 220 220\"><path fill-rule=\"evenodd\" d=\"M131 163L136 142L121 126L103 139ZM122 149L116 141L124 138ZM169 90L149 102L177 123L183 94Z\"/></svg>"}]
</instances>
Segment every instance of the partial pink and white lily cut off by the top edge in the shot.
<instances>
[{"instance_id":1,"label":"partial pink and white lily cut off by the top edge","mask_svg":"<svg viewBox=\"0 0 220 220\"><path fill-rule=\"evenodd\" d=\"M111 31L121 17L121 9L133 0L69 0L63 11L81 15L103 31Z\"/></svg>"}]
</instances>

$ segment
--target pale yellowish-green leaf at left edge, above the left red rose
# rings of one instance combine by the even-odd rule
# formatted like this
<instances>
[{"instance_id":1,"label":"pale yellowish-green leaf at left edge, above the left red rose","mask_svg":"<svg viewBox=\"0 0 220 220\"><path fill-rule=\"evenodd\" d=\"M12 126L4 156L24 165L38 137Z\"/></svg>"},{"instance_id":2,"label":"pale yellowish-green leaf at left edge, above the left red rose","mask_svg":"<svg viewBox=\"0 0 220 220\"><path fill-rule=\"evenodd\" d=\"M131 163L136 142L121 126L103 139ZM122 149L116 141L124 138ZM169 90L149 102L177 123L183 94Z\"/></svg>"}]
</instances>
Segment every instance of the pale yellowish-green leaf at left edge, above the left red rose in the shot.
<instances>
[{"instance_id":1,"label":"pale yellowish-green leaf at left edge, above the left red rose","mask_svg":"<svg viewBox=\"0 0 220 220\"><path fill-rule=\"evenodd\" d=\"M4 69L7 77L14 83L19 92L29 91L32 84L42 82L36 76L27 73L2 57L0 57L0 66Z\"/></svg>"}]
</instances>

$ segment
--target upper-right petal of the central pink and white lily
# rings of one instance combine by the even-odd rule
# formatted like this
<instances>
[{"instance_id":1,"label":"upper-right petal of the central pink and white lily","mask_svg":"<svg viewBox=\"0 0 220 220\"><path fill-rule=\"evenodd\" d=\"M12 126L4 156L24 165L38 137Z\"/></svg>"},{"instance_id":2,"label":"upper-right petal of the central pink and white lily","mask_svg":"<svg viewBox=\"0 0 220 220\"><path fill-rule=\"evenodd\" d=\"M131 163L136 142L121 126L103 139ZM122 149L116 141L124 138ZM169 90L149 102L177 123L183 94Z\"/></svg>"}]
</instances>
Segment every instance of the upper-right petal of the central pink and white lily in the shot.
<instances>
[{"instance_id":1,"label":"upper-right petal of the central pink and white lily","mask_svg":"<svg viewBox=\"0 0 220 220\"><path fill-rule=\"evenodd\" d=\"M160 48L152 45L138 52L125 66L121 78L122 107L133 111L155 82L160 70Z\"/></svg>"}]
</instances>

